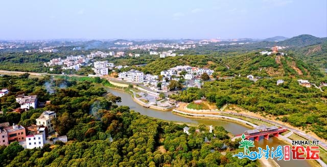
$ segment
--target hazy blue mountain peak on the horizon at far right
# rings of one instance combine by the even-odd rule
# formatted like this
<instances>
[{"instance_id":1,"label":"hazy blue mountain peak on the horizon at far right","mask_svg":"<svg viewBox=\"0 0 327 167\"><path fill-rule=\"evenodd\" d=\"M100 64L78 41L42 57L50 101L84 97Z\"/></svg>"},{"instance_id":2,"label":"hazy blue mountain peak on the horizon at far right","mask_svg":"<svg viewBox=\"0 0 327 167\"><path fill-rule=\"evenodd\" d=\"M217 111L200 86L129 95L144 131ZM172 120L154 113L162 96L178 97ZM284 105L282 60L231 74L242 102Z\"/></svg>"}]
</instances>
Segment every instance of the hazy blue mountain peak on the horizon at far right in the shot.
<instances>
[{"instance_id":1,"label":"hazy blue mountain peak on the horizon at far right","mask_svg":"<svg viewBox=\"0 0 327 167\"><path fill-rule=\"evenodd\" d=\"M318 38L312 35L299 35L284 41L277 42L279 46L294 46L294 47L304 47L309 45L315 45L327 41L326 38Z\"/></svg>"}]
</instances>

